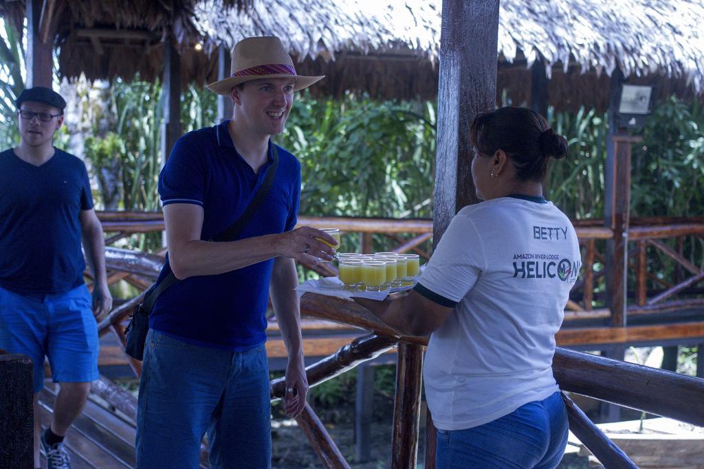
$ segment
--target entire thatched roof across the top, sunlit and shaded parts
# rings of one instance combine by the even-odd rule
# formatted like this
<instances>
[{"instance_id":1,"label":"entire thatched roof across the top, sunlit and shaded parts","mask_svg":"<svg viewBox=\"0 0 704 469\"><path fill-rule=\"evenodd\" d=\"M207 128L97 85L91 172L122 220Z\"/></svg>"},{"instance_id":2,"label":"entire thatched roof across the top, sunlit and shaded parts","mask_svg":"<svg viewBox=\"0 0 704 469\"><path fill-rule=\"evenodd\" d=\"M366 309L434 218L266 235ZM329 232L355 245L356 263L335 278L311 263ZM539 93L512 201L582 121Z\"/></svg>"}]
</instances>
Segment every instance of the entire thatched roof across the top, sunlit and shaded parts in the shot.
<instances>
[{"instance_id":1,"label":"entire thatched roof across the top, sunlit and shaded parts","mask_svg":"<svg viewBox=\"0 0 704 469\"><path fill-rule=\"evenodd\" d=\"M11 5L0 4L0 14ZM433 98L437 89L441 0L57 0L60 72L88 78L161 74L164 26L182 51L184 79L216 79L217 44L275 34L298 58L299 73L328 76L314 91ZM239 7L239 8L237 8ZM11 9L11 8L9 8ZM618 65L658 91L704 94L704 1L502 0L498 86L514 102L529 96L527 69L546 64L551 102L603 107ZM88 36L96 28L122 36ZM126 39L127 30L137 30ZM98 44L98 46L96 46ZM201 44L202 51L194 46ZM97 53L101 49L102 53Z\"/></svg>"}]
</instances>

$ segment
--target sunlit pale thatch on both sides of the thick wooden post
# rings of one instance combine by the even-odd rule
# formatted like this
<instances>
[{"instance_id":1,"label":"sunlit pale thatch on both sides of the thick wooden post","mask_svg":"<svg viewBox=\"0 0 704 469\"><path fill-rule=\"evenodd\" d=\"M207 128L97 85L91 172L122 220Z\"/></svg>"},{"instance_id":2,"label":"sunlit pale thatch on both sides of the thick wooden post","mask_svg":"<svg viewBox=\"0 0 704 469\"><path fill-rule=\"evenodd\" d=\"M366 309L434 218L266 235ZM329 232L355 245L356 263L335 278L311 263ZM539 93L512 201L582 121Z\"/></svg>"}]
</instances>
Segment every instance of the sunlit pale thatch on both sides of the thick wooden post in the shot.
<instances>
[{"instance_id":1,"label":"sunlit pale thatch on both sides of the thick wooden post","mask_svg":"<svg viewBox=\"0 0 704 469\"><path fill-rule=\"evenodd\" d=\"M433 60L439 53L439 0L255 1L223 15L222 0L201 1L199 27L227 44L247 36L278 34L301 58L338 51L384 55L399 50ZM513 63L537 58L566 73L629 77L659 73L684 77L704 91L704 2L691 0L502 0L498 53Z\"/></svg>"}]
</instances>

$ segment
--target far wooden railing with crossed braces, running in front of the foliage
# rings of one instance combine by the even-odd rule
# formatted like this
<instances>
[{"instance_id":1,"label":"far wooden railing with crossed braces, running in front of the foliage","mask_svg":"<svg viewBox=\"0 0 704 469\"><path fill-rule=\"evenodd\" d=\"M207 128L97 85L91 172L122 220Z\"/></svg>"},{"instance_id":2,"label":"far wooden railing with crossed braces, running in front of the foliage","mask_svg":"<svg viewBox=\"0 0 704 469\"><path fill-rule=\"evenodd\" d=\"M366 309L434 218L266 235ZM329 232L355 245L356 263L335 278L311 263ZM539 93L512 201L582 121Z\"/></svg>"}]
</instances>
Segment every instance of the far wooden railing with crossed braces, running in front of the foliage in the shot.
<instances>
[{"instance_id":1,"label":"far wooden railing with crossed braces, running in front of the foliage","mask_svg":"<svg viewBox=\"0 0 704 469\"><path fill-rule=\"evenodd\" d=\"M99 212L99 218L103 229L111 233L106 238L108 243L114 243L132 233L164 229L163 215L158 212ZM298 217L298 224L318 228L334 226L346 233L358 233L360 252L372 252L372 236L376 234L391 241L391 250L415 252L424 259L429 258L429 252L422 246L432 239L431 220L301 216ZM605 265L608 264L605 243L612 240L614 232L603 226L602 220L575 221L574 225L582 248L582 278L572 289L565 311L566 318L608 317L611 308L603 294L607 273ZM627 307L629 314L704 308L704 295L685 295L688 290L692 291L693 287L704 281L704 270L701 265L686 259L683 253L684 246L688 244L687 238L689 243L704 239L704 217L634 219L630 221L627 234L631 248L627 264L630 274L627 296L631 298ZM402 235L408 239L402 239ZM675 247L670 247L668 243L674 243ZM675 274L673 279L662 278L658 272L649 269L650 264L662 264L664 259L674 264L674 267L671 266ZM153 262L161 262L161 259L155 256ZM337 269L332 264L308 267L323 276L337 274ZM685 273L690 275L685 276ZM124 273L113 274L110 280L125 280L138 288L144 287L138 272L129 276ZM648 288L648 283L659 288ZM704 290L700 293L704 293Z\"/></svg>"}]
</instances>

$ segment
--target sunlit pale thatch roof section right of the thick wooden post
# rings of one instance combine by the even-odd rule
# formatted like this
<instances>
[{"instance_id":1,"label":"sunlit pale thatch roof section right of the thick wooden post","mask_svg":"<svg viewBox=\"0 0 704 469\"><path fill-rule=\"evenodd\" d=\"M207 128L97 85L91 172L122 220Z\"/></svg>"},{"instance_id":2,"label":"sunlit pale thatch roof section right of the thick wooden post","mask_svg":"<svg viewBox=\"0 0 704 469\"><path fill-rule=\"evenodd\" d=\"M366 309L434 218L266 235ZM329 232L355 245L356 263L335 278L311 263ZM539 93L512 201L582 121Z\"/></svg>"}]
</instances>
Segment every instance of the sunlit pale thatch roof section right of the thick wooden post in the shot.
<instances>
[{"instance_id":1,"label":"sunlit pale thatch roof section right of the thick wooden post","mask_svg":"<svg viewBox=\"0 0 704 469\"><path fill-rule=\"evenodd\" d=\"M499 52L508 62L522 51L567 72L626 77L684 77L704 91L704 2L701 0L502 1ZM549 74L548 68L548 74Z\"/></svg>"}]
</instances>

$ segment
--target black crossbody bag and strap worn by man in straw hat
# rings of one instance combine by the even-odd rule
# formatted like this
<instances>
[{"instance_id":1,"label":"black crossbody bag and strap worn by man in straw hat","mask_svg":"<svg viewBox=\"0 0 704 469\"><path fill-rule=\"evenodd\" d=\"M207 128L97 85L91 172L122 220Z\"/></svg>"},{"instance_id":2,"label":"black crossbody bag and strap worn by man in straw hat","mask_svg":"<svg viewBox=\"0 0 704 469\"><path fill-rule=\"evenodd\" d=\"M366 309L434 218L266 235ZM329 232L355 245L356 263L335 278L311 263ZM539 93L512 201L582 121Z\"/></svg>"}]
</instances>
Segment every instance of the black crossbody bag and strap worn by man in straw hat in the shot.
<instances>
[{"instance_id":1,"label":"black crossbody bag and strap worn by man in straw hat","mask_svg":"<svg viewBox=\"0 0 704 469\"><path fill-rule=\"evenodd\" d=\"M242 229L244 229L244 227L249 223L249 220L254 212L256 212L258 207L269 194L271 186L274 182L274 177L276 176L276 170L279 167L279 154L273 143L272 156L274 162L267 170L267 174L262 185L259 186L247 208L232 225L227 227L225 231L218 234L218 236L215 236L215 238L213 238L214 241L231 241L236 239ZM125 352L127 352L127 355L131 356L133 359L139 361L144 359L144 344L146 342L146 334L149 332L149 314L151 314L151 309L154 307L154 303L159 295L161 295L161 293L171 285L177 283L177 281L178 278L176 278L173 272L170 271L164 277L163 281L152 285L149 290L146 290L144 300L142 303L137 304L137 307L134 308L134 312L132 313L132 316L130 316L130 323L125 329L125 335L127 336L125 342Z\"/></svg>"}]
</instances>

